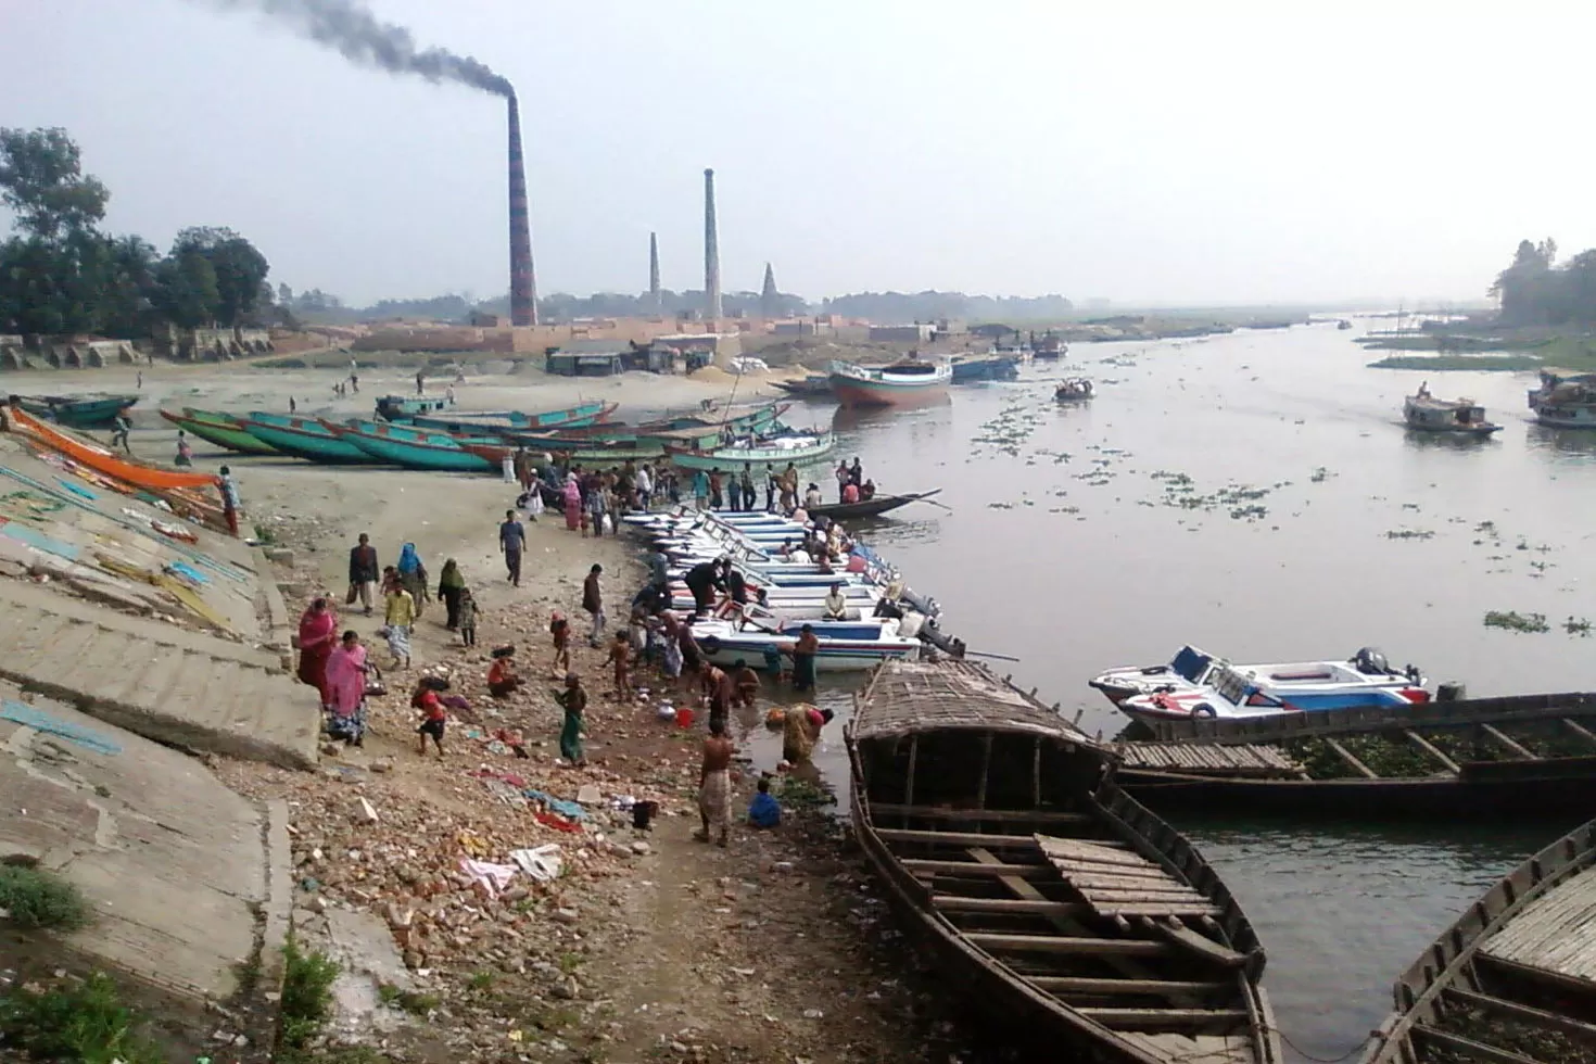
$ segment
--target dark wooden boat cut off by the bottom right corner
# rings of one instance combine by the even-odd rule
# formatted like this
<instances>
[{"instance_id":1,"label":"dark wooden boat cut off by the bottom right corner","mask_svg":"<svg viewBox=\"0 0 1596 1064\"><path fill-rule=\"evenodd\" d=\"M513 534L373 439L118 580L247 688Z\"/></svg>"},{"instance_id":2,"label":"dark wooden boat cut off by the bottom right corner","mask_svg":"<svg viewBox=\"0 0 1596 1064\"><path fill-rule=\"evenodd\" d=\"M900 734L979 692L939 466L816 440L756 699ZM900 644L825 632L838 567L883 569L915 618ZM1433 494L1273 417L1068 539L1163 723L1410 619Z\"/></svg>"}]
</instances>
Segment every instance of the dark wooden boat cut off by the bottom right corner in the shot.
<instances>
[{"instance_id":1,"label":"dark wooden boat cut off by the bottom right corner","mask_svg":"<svg viewBox=\"0 0 1596 1064\"><path fill-rule=\"evenodd\" d=\"M1596 822L1468 906L1393 997L1361 1064L1596 1059Z\"/></svg>"}]
</instances>

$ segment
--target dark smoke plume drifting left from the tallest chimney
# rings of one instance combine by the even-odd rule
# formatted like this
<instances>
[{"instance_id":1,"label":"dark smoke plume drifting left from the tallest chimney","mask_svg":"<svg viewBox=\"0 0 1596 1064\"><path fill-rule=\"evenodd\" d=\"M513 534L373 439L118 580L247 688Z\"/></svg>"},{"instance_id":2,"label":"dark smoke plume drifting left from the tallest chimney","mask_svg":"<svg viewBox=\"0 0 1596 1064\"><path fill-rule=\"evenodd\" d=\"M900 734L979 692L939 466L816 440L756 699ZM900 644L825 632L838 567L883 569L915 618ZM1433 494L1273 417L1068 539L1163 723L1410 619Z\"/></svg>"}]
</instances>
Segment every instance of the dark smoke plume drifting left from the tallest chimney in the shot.
<instances>
[{"instance_id":1,"label":"dark smoke plume drifting left from the tallest chimney","mask_svg":"<svg viewBox=\"0 0 1596 1064\"><path fill-rule=\"evenodd\" d=\"M509 81L471 56L447 48L420 48L410 30L381 22L358 0L200 0L223 11L259 11L300 37L327 45L351 62L389 73L415 73L428 81L458 81L516 96Z\"/></svg>"}]
</instances>

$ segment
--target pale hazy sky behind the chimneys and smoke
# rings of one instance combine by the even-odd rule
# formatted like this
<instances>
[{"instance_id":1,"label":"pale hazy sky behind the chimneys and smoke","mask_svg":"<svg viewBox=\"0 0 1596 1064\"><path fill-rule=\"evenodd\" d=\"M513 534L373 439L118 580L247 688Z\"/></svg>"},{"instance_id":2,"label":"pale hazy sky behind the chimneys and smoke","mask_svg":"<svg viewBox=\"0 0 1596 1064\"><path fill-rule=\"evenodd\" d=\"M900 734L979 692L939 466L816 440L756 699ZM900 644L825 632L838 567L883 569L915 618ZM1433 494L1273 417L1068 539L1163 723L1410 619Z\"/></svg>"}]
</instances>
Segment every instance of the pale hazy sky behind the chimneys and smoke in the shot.
<instances>
[{"instance_id":1,"label":"pale hazy sky behind the chimneys and smoke","mask_svg":"<svg viewBox=\"0 0 1596 1064\"><path fill-rule=\"evenodd\" d=\"M522 99L539 292L1475 298L1596 244L1588 5L373 0ZM1183 14L1200 10L1203 18ZM504 107L200 0L0 0L0 124L109 227L350 301L508 289Z\"/></svg>"}]
</instances>

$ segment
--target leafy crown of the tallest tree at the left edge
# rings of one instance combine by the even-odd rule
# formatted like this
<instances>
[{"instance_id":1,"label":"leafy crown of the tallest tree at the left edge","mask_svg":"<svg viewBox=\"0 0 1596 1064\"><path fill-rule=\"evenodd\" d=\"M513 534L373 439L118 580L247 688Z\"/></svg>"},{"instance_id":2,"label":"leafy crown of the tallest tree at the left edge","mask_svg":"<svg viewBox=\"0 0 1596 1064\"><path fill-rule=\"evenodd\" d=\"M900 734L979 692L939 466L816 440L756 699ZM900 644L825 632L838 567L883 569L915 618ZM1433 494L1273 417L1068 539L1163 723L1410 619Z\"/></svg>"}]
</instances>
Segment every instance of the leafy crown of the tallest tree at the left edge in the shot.
<instances>
[{"instance_id":1,"label":"leafy crown of the tallest tree at the left edge","mask_svg":"<svg viewBox=\"0 0 1596 1064\"><path fill-rule=\"evenodd\" d=\"M65 129L0 129L0 203L18 227L56 241L91 231L105 217L110 191L83 174L78 145Z\"/></svg>"}]
</instances>

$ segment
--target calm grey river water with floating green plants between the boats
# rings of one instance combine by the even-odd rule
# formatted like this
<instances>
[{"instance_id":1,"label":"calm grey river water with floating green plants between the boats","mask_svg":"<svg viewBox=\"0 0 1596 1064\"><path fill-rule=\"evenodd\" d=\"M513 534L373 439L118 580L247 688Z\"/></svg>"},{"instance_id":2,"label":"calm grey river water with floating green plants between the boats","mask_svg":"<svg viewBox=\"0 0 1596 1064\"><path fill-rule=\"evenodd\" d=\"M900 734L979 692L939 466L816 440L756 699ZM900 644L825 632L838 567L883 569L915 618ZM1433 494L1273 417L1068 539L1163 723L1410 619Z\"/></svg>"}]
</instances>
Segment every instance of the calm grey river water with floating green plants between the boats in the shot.
<instances>
[{"instance_id":1,"label":"calm grey river water with floating green plants between the boats","mask_svg":"<svg viewBox=\"0 0 1596 1064\"><path fill-rule=\"evenodd\" d=\"M1467 372L1432 375L1430 391L1483 402L1503 431L1406 432L1401 397L1424 376L1368 368L1353 335L1079 345L1018 381L956 388L948 405L836 412L841 451L883 490L942 488L948 507L860 531L942 603L948 632L1018 657L994 665L1082 710L1088 732L1124 719L1087 680L1186 641L1235 660L1373 644L1470 696L1591 688L1596 643L1562 622L1596 619L1596 434L1529 424L1534 375ZM1096 383L1090 404L1053 400L1073 373ZM1492 609L1545 614L1551 630L1486 627ZM849 691L830 684L820 700L846 719ZM817 766L846 793L841 727L827 732ZM761 763L779 756L774 737L753 745ZM1508 828L1170 818L1262 936L1286 1038L1336 1058L1464 904L1578 815Z\"/></svg>"}]
</instances>

